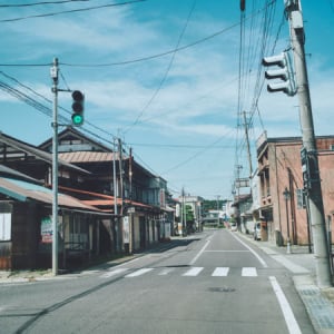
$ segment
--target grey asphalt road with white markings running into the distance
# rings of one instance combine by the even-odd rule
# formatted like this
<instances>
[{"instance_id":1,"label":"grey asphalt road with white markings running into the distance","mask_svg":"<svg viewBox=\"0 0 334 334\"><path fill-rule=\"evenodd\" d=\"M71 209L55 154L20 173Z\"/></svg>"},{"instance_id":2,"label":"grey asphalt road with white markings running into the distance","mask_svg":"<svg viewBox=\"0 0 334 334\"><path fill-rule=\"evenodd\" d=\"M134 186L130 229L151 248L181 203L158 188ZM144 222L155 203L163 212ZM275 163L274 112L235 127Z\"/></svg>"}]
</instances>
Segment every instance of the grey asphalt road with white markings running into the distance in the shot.
<instances>
[{"instance_id":1,"label":"grey asphalt road with white markings running into the distance","mask_svg":"<svg viewBox=\"0 0 334 334\"><path fill-rule=\"evenodd\" d=\"M314 333L291 274L208 230L119 266L0 285L0 333Z\"/></svg>"}]
</instances>

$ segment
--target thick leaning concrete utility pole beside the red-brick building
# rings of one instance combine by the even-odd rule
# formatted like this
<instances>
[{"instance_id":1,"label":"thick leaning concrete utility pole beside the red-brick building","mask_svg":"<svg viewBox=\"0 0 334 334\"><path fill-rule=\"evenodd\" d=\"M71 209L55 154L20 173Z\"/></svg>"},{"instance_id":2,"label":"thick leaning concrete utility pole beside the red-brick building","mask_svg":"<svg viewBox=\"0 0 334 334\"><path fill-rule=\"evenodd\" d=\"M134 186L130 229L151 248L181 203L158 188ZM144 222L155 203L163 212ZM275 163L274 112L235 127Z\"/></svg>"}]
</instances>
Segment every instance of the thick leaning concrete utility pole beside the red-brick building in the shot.
<instances>
[{"instance_id":1,"label":"thick leaning concrete utility pole beside the red-brick building","mask_svg":"<svg viewBox=\"0 0 334 334\"><path fill-rule=\"evenodd\" d=\"M314 135L312 106L305 61L305 36L303 27L303 14L301 0L284 0L287 12L291 42L294 55L294 63L297 81L297 94L299 99L301 126L303 135L303 147L308 160L310 183L306 188L310 206L310 217L314 243L314 256L316 264L316 278L320 287L332 286L330 254L326 240L325 216L320 179L318 158Z\"/></svg>"}]
</instances>

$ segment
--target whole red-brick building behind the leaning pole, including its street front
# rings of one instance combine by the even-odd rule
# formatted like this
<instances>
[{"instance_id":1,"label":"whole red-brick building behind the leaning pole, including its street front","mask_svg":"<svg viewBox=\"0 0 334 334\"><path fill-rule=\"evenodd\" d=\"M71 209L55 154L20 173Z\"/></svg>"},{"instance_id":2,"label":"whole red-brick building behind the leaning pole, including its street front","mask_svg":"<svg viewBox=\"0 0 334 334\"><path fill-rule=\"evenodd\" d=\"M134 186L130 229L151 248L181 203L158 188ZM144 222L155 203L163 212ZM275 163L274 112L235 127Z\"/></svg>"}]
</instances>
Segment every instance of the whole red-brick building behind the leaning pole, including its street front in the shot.
<instances>
[{"instance_id":1,"label":"whole red-brick building behind the leaning pole, including its street front","mask_svg":"<svg viewBox=\"0 0 334 334\"><path fill-rule=\"evenodd\" d=\"M312 243L307 207L303 205L302 138L267 138L257 141L259 177L259 219L269 240L278 245ZM322 180L324 214L331 220L334 210L334 136L316 137ZM288 197L284 196L287 189ZM333 230L333 228L332 228Z\"/></svg>"}]
</instances>

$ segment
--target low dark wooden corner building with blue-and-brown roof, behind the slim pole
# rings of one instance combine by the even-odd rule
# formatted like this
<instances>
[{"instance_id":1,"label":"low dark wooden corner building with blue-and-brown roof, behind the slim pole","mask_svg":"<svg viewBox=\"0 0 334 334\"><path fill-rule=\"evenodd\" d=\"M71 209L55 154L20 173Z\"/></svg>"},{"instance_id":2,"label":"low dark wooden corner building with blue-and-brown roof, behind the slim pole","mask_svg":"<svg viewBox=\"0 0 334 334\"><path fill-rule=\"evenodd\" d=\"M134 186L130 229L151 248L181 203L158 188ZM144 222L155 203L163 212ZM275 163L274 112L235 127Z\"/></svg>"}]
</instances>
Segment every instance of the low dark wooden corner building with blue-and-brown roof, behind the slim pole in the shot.
<instances>
[{"instance_id":1,"label":"low dark wooden corner building with blue-and-brown roof, behind the slim pole","mask_svg":"<svg viewBox=\"0 0 334 334\"><path fill-rule=\"evenodd\" d=\"M39 180L0 165L0 269L50 266L52 195ZM58 204L59 258L66 268L71 256L90 259L100 253L104 213L65 194Z\"/></svg>"}]
</instances>

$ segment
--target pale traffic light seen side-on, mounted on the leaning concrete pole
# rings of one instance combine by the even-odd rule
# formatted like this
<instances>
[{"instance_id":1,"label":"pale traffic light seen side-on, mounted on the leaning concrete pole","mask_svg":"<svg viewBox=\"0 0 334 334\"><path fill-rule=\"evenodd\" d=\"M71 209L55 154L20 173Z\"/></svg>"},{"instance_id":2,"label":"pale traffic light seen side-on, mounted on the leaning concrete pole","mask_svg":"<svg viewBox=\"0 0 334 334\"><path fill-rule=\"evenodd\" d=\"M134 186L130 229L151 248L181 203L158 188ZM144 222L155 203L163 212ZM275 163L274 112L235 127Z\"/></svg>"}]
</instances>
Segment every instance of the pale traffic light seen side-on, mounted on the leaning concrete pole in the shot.
<instances>
[{"instance_id":1,"label":"pale traffic light seen side-on, mounted on the leaning concrete pole","mask_svg":"<svg viewBox=\"0 0 334 334\"><path fill-rule=\"evenodd\" d=\"M265 71L266 79L281 79L281 81L267 85L269 92L283 91L288 96L294 96L297 92L288 52L285 51L277 56L265 57L262 63L267 67L278 67Z\"/></svg>"}]
</instances>

